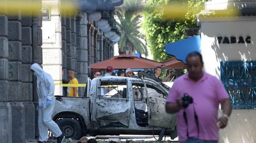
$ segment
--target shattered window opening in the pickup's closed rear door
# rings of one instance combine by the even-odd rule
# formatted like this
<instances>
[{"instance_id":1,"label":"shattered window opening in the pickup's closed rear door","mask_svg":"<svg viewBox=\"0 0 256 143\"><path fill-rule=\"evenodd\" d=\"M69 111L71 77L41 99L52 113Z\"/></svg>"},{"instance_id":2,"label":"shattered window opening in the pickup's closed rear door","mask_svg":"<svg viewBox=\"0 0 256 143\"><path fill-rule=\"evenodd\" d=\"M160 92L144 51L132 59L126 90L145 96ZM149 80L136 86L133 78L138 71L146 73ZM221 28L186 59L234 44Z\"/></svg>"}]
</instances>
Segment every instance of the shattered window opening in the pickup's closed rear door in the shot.
<instances>
[{"instance_id":1,"label":"shattered window opening in the pickup's closed rear door","mask_svg":"<svg viewBox=\"0 0 256 143\"><path fill-rule=\"evenodd\" d=\"M127 82L123 80L100 81L97 96L106 98L128 98Z\"/></svg>"}]
</instances>

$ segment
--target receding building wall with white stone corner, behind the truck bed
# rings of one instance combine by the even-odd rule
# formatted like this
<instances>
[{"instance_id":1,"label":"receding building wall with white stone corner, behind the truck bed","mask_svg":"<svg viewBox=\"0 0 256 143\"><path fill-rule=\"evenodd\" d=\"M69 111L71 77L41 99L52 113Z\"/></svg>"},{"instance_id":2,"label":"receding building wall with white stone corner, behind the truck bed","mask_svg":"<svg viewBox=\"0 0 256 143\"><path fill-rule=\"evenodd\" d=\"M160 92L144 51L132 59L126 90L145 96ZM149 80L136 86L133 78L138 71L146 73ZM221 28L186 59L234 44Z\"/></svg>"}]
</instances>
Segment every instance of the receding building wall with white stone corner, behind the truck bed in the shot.
<instances>
[{"instance_id":1,"label":"receding building wall with white stone corner, behind the truck bed","mask_svg":"<svg viewBox=\"0 0 256 143\"><path fill-rule=\"evenodd\" d=\"M42 2L43 7L50 8L51 12L51 19L43 21L42 27L43 68L56 83L55 96L62 96L62 85L58 83L62 79L69 80L67 71L75 70L79 83L85 84L90 77L89 64L113 57L113 44L102 37L96 21L90 20L86 12L71 14L61 11L60 0ZM84 94L84 89L79 87L80 96Z\"/></svg>"}]
</instances>

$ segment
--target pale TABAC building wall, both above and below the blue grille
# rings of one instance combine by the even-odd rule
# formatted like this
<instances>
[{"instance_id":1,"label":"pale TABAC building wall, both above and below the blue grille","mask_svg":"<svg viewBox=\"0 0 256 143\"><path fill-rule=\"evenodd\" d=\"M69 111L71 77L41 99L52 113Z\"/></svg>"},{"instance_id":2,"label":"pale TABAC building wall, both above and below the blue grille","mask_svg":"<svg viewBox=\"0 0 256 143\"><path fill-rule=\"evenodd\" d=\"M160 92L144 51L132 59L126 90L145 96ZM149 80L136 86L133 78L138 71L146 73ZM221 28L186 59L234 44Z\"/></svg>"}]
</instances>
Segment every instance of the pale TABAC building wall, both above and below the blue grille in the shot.
<instances>
[{"instance_id":1,"label":"pale TABAC building wall, both above and below the blue grille","mask_svg":"<svg viewBox=\"0 0 256 143\"><path fill-rule=\"evenodd\" d=\"M201 53L205 71L220 78L220 62L232 60L255 60L256 19L253 16L236 18L200 18ZM217 37L247 37L251 43L219 44ZM223 42L223 41L222 41ZM255 110L233 110L228 126L220 129L220 143L236 143L256 141L254 132Z\"/></svg>"}]
</instances>

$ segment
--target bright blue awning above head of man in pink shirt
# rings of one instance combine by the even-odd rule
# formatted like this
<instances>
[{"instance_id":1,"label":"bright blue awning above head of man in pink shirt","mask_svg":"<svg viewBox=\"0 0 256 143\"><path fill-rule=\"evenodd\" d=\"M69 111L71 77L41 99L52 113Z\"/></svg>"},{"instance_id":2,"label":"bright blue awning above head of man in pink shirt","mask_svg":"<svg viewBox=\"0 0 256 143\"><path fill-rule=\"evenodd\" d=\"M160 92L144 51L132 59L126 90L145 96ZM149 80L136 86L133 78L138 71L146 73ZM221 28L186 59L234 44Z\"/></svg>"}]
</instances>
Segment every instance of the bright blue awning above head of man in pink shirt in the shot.
<instances>
[{"instance_id":1,"label":"bright blue awning above head of man in pink shirt","mask_svg":"<svg viewBox=\"0 0 256 143\"><path fill-rule=\"evenodd\" d=\"M186 57L192 51L200 51L201 47L201 38L200 36L194 36L191 38L185 38L177 42L172 42L166 44L166 53L168 55L173 55L178 60L182 60L183 63L186 63Z\"/></svg>"}]
</instances>

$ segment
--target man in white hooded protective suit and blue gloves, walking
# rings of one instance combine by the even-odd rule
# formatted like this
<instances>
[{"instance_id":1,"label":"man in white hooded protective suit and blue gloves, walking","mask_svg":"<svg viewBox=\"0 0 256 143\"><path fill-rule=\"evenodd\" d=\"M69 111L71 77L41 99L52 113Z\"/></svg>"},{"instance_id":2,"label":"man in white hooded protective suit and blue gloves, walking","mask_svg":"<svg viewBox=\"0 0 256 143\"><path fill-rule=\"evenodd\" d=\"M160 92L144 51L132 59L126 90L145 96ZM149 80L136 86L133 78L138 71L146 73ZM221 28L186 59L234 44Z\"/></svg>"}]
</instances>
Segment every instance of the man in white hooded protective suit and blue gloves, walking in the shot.
<instances>
[{"instance_id":1,"label":"man in white hooded protective suit and blue gloves, walking","mask_svg":"<svg viewBox=\"0 0 256 143\"><path fill-rule=\"evenodd\" d=\"M36 110L38 110L39 142L47 142L49 129L57 138L57 143L62 143L65 137L60 131L59 126L51 119L55 105L55 85L52 77L44 72L37 63L32 64L30 69L33 75L37 77L36 92L38 93L39 106L36 107Z\"/></svg>"}]
</instances>

